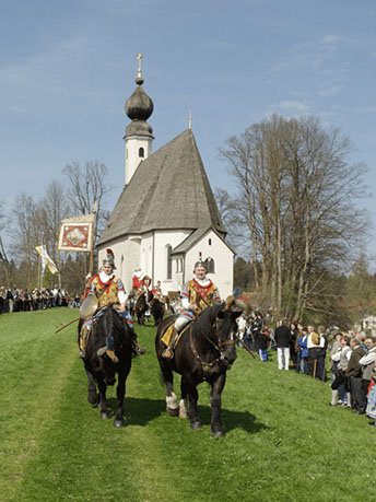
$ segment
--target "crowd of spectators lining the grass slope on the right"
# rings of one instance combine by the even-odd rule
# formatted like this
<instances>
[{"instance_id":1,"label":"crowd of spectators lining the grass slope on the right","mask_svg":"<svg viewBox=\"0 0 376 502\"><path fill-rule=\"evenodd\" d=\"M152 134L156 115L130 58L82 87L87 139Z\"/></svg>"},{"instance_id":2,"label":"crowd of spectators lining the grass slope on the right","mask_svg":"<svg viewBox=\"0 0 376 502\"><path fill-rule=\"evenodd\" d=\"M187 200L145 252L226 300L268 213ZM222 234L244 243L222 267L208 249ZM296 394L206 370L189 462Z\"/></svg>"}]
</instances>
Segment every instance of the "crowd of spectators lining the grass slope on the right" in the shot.
<instances>
[{"instance_id":1,"label":"crowd of spectators lining the grass slope on the right","mask_svg":"<svg viewBox=\"0 0 376 502\"><path fill-rule=\"evenodd\" d=\"M303 326L282 319L275 330L262 314L238 318L240 345L269 361L267 349L275 349L278 369L291 367L321 382L330 374L330 406L342 406L357 415L367 415L376 427L376 338L359 331L330 332L325 326ZM331 345L329 345L329 342Z\"/></svg>"}]
</instances>

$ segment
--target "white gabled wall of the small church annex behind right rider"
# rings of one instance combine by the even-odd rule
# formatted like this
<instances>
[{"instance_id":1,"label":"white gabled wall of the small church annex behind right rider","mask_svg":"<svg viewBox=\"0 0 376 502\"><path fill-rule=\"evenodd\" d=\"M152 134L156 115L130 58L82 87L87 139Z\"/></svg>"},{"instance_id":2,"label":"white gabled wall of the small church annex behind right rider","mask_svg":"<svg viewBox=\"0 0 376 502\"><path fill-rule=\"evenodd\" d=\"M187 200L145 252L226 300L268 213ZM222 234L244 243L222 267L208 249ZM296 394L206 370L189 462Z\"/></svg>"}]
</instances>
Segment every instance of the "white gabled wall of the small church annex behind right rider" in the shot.
<instances>
[{"instance_id":1,"label":"white gabled wall of the small church annex behind right rider","mask_svg":"<svg viewBox=\"0 0 376 502\"><path fill-rule=\"evenodd\" d=\"M225 299L233 293L233 252L213 231L209 231L186 255L186 281L192 277L193 267L199 259L200 252L203 260L208 257L214 260L215 271L214 273L208 273L208 277L218 287L221 296Z\"/></svg>"}]
</instances>

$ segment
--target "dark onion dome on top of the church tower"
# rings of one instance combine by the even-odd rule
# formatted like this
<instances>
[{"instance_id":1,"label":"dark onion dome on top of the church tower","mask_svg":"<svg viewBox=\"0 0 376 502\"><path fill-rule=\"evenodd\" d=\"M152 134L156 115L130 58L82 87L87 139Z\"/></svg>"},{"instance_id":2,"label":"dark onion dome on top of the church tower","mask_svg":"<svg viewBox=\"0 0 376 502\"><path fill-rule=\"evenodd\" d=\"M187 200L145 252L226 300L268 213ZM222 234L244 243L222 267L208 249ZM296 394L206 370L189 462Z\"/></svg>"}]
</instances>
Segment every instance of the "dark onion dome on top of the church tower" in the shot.
<instances>
[{"instance_id":1,"label":"dark onion dome on top of the church tower","mask_svg":"<svg viewBox=\"0 0 376 502\"><path fill-rule=\"evenodd\" d=\"M152 100L142 89L143 79L136 79L137 89L126 102L126 114L132 120L126 129L126 136L150 136L152 137L153 128L146 124L148 118L152 115L154 105Z\"/></svg>"}]
</instances>

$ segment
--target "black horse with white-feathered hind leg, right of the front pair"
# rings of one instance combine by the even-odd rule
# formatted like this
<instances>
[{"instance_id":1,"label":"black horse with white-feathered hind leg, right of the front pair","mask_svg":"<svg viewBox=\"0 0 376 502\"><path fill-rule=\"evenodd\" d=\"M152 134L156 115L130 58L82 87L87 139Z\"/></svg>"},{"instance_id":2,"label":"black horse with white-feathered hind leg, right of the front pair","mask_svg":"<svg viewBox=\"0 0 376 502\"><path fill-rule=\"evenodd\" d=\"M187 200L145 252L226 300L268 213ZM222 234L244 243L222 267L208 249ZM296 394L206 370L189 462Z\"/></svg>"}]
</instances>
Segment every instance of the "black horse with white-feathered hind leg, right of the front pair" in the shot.
<instances>
[{"instance_id":1,"label":"black horse with white-feathered hind leg, right of the front pair","mask_svg":"<svg viewBox=\"0 0 376 502\"><path fill-rule=\"evenodd\" d=\"M161 341L176 316L164 319L156 331L155 348L163 380L166 384L167 411L172 416L186 418L192 429L201 429L197 401L197 386L203 381L211 385L211 432L213 436L224 436L221 423L221 394L226 381L226 371L236 360L236 318L242 311L234 310L235 299L218 303L203 311L181 335L173 359L162 357L164 343ZM173 371L181 375L181 399L177 402L174 393Z\"/></svg>"}]
</instances>

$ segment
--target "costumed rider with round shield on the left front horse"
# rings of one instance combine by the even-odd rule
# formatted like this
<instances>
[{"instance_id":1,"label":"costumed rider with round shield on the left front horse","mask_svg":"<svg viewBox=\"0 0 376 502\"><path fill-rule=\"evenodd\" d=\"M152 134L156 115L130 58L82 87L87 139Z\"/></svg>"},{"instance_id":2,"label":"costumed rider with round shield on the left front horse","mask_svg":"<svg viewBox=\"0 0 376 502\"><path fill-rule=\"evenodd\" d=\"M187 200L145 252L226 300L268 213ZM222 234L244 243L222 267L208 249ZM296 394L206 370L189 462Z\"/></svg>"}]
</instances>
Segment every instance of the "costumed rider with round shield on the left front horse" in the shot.
<instances>
[{"instance_id":1,"label":"costumed rider with round shield on the left front horse","mask_svg":"<svg viewBox=\"0 0 376 502\"><path fill-rule=\"evenodd\" d=\"M122 285L121 280L115 276L114 270L115 260L114 253L111 249L106 249L107 256L103 260L103 266L101 272L92 277L90 280L90 287L87 291L87 296L95 295L98 300L98 311L108 304L113 304L114 308L124 317L125 322L128 324L133 342L133 352L137 354L142 354L145 352L145 349L139 347L137 343L137 335L134 331L134 323L126 308L126 291ZM93 322L93 318L87 318L83 325L83 328L90 327L90 323ZM110 345L110 341L109 341ZM111 350L110 347L107 347ZM84 358L84 348L80 352L80 357Z\"/></svg>"}]
</instances>

